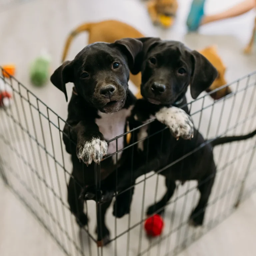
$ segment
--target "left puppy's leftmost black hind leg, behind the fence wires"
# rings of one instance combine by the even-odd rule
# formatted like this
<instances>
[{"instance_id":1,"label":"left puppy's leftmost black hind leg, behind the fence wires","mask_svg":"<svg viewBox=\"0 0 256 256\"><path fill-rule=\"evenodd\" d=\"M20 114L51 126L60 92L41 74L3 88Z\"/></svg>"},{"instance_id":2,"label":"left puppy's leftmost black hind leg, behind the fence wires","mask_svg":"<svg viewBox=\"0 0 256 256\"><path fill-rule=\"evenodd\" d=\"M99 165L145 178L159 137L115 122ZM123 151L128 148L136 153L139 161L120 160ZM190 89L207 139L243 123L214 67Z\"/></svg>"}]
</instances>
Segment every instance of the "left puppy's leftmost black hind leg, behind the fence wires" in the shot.
<instances>
[{"instance_id":1,"label":"left puppy's leftmost black hind leg, behind the fence wires","mask_svg":"<svg viewBox=\"0 0 256 256\"><path fill-rule=\"evenodd\" d=\"M84 201L79 198L81 193L81 186L70 177L68 184L68 203L70 206L71 212L76 217L76 222L80 227L87 225L88 218L84 213Z\"/></svg>"}]
</instances>

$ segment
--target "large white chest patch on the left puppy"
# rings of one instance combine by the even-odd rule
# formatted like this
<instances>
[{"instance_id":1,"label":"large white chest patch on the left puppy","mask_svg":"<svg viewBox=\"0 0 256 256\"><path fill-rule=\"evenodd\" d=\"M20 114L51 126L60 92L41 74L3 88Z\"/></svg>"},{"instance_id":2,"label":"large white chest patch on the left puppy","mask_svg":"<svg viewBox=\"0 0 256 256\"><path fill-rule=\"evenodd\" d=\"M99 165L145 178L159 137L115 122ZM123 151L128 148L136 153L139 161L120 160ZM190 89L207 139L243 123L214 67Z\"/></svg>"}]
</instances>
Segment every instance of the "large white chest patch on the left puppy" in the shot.
<instances>
[{"instance_id":1,"label":"large white chest patch on the left puppy","mask_svg":"<svg viewBox=\"0 0 256 256\"><path fill-rule=\"evenodd\" d=\"M133 106L128 109L123 108L120 111L113 114L106 114L98 111L98 115L101 118L95 120L96 124L99 126L100 132L103 134L106 141L111 140L125 132L126 118L131 115L131 110ZM108 153L107 155L115 153L117 150L124 148L124 136L113 140L108 143ZM119 160L122 153L117 154L117 159ZM113 162L116 163L116 155L112 156Z\"/></svg>"}]
</instances>

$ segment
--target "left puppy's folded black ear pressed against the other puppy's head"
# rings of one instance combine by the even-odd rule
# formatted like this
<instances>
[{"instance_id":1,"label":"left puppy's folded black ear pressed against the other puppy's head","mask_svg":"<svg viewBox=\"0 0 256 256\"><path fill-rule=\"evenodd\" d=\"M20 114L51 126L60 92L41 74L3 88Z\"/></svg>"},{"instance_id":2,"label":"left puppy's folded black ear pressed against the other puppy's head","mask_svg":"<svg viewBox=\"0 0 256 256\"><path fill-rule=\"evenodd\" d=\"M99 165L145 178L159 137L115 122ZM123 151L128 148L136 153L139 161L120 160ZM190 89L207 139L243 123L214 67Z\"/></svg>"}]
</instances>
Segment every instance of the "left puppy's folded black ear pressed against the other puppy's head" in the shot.
<instances>
[{"instance_id":1,"label":"left puppy's folded black ear pressed against the other puppy's head","mask_svg":"<svg viewBox=\"0 0 256 256\"><path fill-rule=\"evenodd\" d=\"M135 38L123 38L121 40L117 40L114 43L118 45L128 59L128 66L132 74L138 74L137 68L135 67L135 59L138 54L141 53L143 44L141 41Z\"/></svg>"}]
</instances>

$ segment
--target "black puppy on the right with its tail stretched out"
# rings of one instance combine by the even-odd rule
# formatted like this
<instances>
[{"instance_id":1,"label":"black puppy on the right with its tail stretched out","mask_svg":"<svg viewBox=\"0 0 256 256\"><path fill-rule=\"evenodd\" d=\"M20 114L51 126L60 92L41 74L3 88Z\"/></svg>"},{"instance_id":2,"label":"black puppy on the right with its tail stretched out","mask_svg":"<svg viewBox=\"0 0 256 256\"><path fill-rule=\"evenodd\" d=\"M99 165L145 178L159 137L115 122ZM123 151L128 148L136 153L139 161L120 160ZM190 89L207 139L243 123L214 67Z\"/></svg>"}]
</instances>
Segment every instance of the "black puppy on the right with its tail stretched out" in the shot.
<instances>
[{"instance_id":1,"label":"black puppy on the right with its tail stretched out","mask_svg":"<svg viewBox=\"0 0 256 256\"><path fill-rule=\"evenodd\" d=\"M144 38L143 53L136 59L140 62L142 72L141 94L129 119L130 129L147 122L152 112L157 112L157 120L171 125L168 119L169 106L176 102L177 106L186 104L185 93L190 85L190 92L195 99L207 89L217 77L216 69L197 51L188 49L184 44L176 41L161 41L156 38ZM188 113L187 106L184 110ZM122 191L133 185L135 179L152 170L159 171L166 177L167 192L163 198L148 208L147 214L163 213L167 201L172 197L179 180L197 180L200 199L191 213L191 223L202 225L205 207L214 183L216 166L213 159L212 147L235 140L247 139L255 135L225 137L206 143L202 135L195 130L194 138L177 141L168 129L160 122L150 122L132 134L132 141L141 141L133 148L133 161L129 165L120 167L118 182L114 184L117 191ZM162 131L163 132L159 132ZM157 133L158 132L158 133ZM133 137L134 136L134 137ZM195 150L196 149L196 150ZM192 152L194 151L194 152ZM130 152L131 153L131 152ZM187 155L184 158L184 155ZM131 172L131 169L134 171ZM112 185L112 186L114 186ZM116 197L113 214L122 217L129 213L133 193L126 191ZM103 199L108 200L108 196Z\"/></svg>"}]
</instances>

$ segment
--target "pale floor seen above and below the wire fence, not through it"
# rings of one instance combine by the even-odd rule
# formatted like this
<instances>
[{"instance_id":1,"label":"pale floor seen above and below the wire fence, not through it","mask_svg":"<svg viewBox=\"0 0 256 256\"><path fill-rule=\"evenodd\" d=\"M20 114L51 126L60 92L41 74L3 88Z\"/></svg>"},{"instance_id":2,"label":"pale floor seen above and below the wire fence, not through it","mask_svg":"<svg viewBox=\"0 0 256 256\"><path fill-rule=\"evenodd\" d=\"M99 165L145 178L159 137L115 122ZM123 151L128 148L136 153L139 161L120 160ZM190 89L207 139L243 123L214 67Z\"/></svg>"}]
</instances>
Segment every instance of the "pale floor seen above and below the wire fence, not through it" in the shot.
<instances>
[{"instance_id":1,"label":"pale floor seen above and below the wire fence, not through it","mask_svg":"<svg viewBox=\"0 0 256 256\"><path fill-rule=\"evenodd\" d=\"M206 15L222 12L241 0L207 0ZM153 24L148 1L143 0L0 0L0 65L13 64L15 77L64 120L67 103L49 81L31 83L31 64L44 49L50 57L51 74L60 64L65 40L78 25L114 19L125 22L145 36L179 40L191 49L217 46L228 83L256 70L255 47L244 53L253 32L255 9L244 15L200 26L186 26L191 0L179 0L171 27ZM66 59L72 59L87 44L88 33L72 42ZM130 83L131 88L134 88ZM67 86L70 95L72 85ZM136 89L134 88L134 91ZM191 99L190 95L188 98ZM255 255L256 196L248 199L227 221L202 237L181 255ZM243 234L248 236L244 237ZM225 240L225 241L224 241ZM0 255L64 255L47 232L21 206L0 179ZM132 254L131 254L132 255Z\"/></svg>"}]
</instances>

